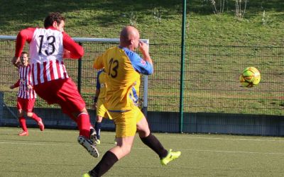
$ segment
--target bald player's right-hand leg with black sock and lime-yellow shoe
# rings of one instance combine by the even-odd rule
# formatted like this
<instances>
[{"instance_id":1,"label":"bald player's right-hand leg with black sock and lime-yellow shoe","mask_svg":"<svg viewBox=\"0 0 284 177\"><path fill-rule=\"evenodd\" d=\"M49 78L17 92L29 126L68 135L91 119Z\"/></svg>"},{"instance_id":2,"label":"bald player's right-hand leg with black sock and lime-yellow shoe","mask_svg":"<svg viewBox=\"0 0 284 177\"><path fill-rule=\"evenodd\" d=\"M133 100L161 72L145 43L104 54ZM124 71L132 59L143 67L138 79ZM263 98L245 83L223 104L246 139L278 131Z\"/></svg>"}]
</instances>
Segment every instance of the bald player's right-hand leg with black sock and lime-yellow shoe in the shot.
<instances>
[{"instance_id":1,"label":"bald player's right-hand leg with black sock and lime-yellow shoe","mask_svg":"<svg viewBox=\"0 0 284 177\"><path fill-rule=\"evenodd\" d=\"M156 154L158 154L158 156L160 157L160 163L162 165L166 165L170 161L177 159L181 153L172 152L172 149L167 151L160 143L160 141L151 133L148 122L143 113L141 113L141 110L137 108L136 111L138 116L137 132L141 141L148 147L150 147Z\"/></svg>"}]
</instances>

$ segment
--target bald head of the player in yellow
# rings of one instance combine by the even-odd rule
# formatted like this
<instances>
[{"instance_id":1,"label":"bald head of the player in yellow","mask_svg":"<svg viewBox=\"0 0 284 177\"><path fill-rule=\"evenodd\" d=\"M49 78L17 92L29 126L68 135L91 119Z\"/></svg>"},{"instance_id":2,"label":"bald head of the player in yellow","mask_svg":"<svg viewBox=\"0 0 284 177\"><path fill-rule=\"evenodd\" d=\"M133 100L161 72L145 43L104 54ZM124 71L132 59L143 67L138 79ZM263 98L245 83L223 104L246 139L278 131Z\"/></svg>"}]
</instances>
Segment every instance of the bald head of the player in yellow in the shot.
<instances>
[{"instance_id":1,"label":"bald head of the player in yellow","mask_svg":"<svg viewBox=\"0 0 284 177\"><path fill-rule=\"evenodd\" d=\"M140 35L135 27L128 25L121 30L121 47L128 47L130 50L135 50L138 47L139 40Z\"/></svg>"}]
</instances>

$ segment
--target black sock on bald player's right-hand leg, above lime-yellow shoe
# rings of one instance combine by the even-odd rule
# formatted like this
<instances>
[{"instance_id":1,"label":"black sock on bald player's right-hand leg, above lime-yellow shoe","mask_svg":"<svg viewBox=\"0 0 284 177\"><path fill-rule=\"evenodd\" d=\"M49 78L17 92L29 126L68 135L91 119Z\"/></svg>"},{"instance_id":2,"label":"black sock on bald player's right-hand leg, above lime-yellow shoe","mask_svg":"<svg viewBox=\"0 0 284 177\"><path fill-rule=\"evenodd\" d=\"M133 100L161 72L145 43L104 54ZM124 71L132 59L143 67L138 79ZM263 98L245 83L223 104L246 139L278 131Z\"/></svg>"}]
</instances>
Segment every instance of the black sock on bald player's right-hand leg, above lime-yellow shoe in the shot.
<instances>
[{"instance_id":1,"label":"black sock on bald player's right-hand leg, above lime-yellow shoe","mask_svg":"<svg viewBox=\"0 0 284 177\"><path fill-rule=\"evenodd\" d=\"M153 149L155 153L157 153L160 159L163 159L165 156L168 155L168 151L160 144L160 141L150 133L148 137L140 137L142 142L146 144L148 147Z\"/></svg>"}]
</instances>

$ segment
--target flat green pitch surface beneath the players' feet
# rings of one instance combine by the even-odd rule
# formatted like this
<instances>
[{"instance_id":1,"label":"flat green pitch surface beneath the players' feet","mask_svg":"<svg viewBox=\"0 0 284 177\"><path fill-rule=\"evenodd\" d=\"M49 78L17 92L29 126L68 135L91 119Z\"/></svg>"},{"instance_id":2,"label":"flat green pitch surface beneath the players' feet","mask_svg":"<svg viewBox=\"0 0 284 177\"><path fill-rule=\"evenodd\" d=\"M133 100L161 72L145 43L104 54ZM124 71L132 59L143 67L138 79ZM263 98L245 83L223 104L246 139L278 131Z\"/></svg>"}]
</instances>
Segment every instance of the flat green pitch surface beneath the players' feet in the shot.
<instances>
[{"instance_id":1,"label":"flat green pitch surface beneath the players' feet","mask_svg":"<svg viewBox=\"0 0 284 177\"><path fill-rule=\"evenodd\" d=\"M101 156L94 159L77 143L77 130L40 132L0 127L0 176L82 176L114 146L114 132L102 132ZM283 137L159 134L165 148L182 156L161 166L158 156L135 139L129 156L105 176L283 176Z\"/></svg>"}]
</instances>

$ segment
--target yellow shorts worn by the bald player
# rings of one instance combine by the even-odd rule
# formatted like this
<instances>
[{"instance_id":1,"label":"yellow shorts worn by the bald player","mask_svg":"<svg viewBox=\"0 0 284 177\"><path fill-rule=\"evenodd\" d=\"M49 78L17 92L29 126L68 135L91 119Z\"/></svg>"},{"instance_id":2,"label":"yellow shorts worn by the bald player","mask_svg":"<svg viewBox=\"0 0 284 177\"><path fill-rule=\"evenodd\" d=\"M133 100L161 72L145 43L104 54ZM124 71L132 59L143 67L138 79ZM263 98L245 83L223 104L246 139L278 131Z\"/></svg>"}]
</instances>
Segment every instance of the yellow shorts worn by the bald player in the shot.
<instances>
[{"instance_id":1,"label":"yellow shorts worn by the bald player","mask_svg":"<svg viewBox=\"0 0 284 177\"><path fill-rule=\"evenodd\" d=\"M136 124L144 118L141 110L135 106L127 112L109 112L116 125L116 137L131 137L136 134Z\"/></svg>"}]
</instances>

